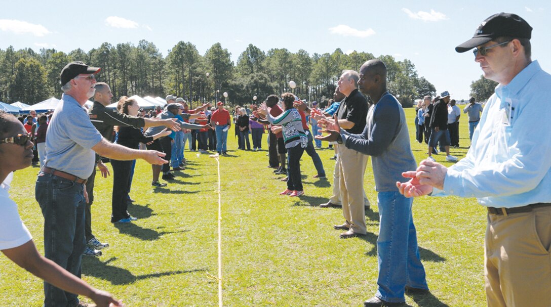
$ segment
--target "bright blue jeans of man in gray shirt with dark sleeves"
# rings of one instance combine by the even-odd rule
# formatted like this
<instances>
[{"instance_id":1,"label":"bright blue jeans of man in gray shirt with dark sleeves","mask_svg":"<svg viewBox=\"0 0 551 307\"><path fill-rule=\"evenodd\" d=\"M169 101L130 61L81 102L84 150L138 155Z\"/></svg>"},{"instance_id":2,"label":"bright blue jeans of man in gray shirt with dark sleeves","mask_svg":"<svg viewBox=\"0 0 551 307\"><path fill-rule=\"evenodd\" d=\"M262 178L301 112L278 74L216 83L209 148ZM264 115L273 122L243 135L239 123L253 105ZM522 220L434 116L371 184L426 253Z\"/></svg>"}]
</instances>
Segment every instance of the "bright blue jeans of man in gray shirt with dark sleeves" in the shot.
<instances>
[{"instance_id":1,"label":"bright blue jeans of man in gray shirt with dark sleeves","mask_svg":"<svg viewBox=\"0 0 551 307\"><path fill-rule=\"evenodd\" d=\"M379 277L376 297L393 303L404 301L405 287L428 289L419 257L413 224L413 199L396 192L380 192L377 257Z\"/></svg>"}]
</instances>

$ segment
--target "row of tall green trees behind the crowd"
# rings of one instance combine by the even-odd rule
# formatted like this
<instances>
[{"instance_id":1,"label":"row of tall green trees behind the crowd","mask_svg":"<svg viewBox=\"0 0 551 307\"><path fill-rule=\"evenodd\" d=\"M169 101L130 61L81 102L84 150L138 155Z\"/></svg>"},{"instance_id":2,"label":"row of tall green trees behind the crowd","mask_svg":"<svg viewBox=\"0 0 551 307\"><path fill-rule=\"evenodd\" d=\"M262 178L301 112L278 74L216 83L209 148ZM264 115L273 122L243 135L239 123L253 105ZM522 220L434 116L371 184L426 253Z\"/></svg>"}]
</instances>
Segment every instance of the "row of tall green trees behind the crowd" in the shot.
<instances>
[{"instance_id":1,"label":"row of tall green trees behind the crowd","mask_svg":"<svg viewBox=\"0 0 551 307\"><path fill-rule=\"evenodd\" d=\"M325 104L332 98L337 80L344 69L358 70L365 61L381 59L388 69L388 90L404 107L424 95L435 95L435 87L419 76L415 65L392 56L374 57L368 52L345 54L340 48L333 53L296 53L285 48L267 52L249 45L231 61L231 53L215 43L200 54L191 42L180 41L166 57L154 43L142 40L133 43L104 42L85 52L78 48L69 53L42 48L0 49L0 101L21 101L32 105L48 97L61 97L60 72L71 61L83 61L101 67L98 81L110 85L113 95L184 97L203 103L228 99L230 103L254 103L270 94L292 91L309 101ZM296 83L290 89L289 80ZM228 92L228 98L222 93Z\"/></svg>"}]
</instances>

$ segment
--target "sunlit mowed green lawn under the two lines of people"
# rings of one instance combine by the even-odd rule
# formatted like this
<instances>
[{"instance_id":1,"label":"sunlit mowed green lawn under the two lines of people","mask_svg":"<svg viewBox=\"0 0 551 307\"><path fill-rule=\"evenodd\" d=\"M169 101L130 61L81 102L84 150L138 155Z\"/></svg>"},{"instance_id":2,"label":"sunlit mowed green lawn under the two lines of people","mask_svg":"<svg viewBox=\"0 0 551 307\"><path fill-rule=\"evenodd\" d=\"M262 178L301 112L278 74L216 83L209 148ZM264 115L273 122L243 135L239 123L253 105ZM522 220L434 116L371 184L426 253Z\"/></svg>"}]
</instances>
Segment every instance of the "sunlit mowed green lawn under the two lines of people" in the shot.
<instances>
[{"instance_id":1,"label":"sunlit mowed green lawn under the two lines of people","mask_svg":"<svg viewBox=\"0 0 551 307\"><path fill-rule=\"evenodd\" d=\"M462 106L461 106L462 108ZM426 145L415 141L414 109L406 109L417 162ZM280 196L285 183L267 168L263 150L238 151L233 127L229 156L220 157L222 172L223 298L225 306L362 306L374 295L377 280L377 207L366 212L368 235L339 239L332 225L343 222L341 209L321 209L331 196L333 150L318 151L328 178L312 178L309 156L301 161L305 196ZM468 139L462 114L460 149ZM252 144L251 144L252 145ZM327 143L323 144L327 147ZM128 211L139 219L112 224L112 177L96 178L93 230L110 248L100 257L83 258L83 279L108 290L127 306L217 306L218 272L217 161L186 150L190 162L167 188L153 188L151 167L138 161ZM444 162L445 155L435 156ZM111 169L111 166L108 165ZM40 253L43 218L34 199L37 167L15 174L11 197ZM371 161L365 191L376 204ZM406 296L409 306L483 306L483 242L486 212L474 199L455 196L414 200L420 254L429 295ZM42 283L0 255L0 306L41 306ZM85 301L89 301L84 298Z\"/></svg>"}]
</instances>

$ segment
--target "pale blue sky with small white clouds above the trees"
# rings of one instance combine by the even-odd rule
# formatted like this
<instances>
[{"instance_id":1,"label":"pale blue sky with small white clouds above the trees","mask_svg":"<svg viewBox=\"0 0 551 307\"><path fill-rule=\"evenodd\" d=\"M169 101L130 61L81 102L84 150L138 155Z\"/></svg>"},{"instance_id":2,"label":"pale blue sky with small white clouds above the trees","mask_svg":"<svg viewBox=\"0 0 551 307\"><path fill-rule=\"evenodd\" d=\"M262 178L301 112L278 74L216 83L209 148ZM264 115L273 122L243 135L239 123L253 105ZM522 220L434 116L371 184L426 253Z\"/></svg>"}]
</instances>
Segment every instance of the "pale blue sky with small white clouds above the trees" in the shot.
<instances>
[{"instance_id":1,"label":"pale blue sky with small white clouds above the trees","mask_svg":"<svg viewBox=\"0 0 551 307\"><path fill-rule=\"evenodd\" d=\"M222 43L236 61L249 43L264 51L304 49L310 54L365 51L410 59L438 92L468 98L482 75L472 53L456 53L480 21L516 13L534 28L532 59L551 72L549 2L543 1L9 1L0 12L0 48L41 47L89 51L145 39L166 56L178 41L201 54ZM93 64L93 63L90 63Z\"/></svg>"}]
</instances>

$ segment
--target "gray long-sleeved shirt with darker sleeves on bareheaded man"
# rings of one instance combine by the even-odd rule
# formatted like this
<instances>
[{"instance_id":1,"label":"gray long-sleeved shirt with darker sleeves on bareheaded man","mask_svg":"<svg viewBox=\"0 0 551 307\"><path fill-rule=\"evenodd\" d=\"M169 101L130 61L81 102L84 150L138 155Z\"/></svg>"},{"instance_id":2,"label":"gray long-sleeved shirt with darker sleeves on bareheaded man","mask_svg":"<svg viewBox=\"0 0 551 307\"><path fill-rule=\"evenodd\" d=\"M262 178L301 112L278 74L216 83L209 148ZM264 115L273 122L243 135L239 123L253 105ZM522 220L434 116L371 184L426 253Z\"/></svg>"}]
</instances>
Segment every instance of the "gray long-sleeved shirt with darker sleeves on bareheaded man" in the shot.
<instances>
[{"instance_id":1,"label":"gray long-sleeved shirt with darker sleeves on bareheaded man","mask_svg":"<svg viewBox=\"0 0 551 307\"><path fill-rule=\"evenodd\" d=\"M378 192L398 191L396 182L406 182L402 172L414 171L417 163L409 144L406 113L388 92L369 108L365 129L350 134L341 129L343 144L371 156L375 189Z\"/></svg>"}]
</instances>

